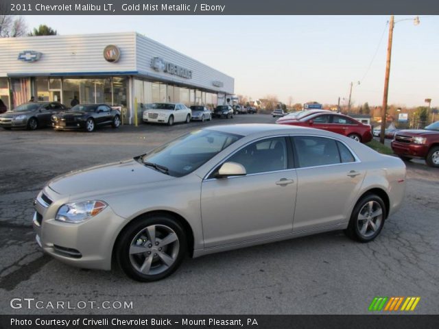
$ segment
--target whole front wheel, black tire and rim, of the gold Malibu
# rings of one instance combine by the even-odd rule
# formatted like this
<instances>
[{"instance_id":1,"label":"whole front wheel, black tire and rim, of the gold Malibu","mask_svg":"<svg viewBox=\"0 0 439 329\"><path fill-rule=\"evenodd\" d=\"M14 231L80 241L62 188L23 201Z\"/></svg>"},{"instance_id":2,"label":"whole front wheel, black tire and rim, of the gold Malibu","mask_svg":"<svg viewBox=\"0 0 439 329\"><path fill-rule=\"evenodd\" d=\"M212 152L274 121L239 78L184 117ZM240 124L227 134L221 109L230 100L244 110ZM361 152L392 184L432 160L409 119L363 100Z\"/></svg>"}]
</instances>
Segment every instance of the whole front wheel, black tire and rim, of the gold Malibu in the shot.
<instances>
[{"instance_id":1,"label":"whole front wheel, black tire and rim, of the gold Malibu","mask_svg":"<svg viewBox=\"0 0 439 329\"><path fill-rule=\"evenodd\" d=\"M171 242L162 244L165 239ZM115 249L121 269L142 282L170 276L186 253L185 230L169 215L143 216L133 221L121 232Z\"/></svg>"}]
</instances>

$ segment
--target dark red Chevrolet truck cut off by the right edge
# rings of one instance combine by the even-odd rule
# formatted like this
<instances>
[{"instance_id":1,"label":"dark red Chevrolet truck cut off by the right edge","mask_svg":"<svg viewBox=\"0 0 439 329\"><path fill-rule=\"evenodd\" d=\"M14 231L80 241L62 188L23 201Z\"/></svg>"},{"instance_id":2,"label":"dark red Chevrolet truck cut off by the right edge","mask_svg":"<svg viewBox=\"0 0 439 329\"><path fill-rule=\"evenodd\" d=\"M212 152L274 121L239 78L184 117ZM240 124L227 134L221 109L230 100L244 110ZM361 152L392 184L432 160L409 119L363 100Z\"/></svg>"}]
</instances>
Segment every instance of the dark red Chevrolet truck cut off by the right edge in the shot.
<instances>
[{"instance_id":1,"label":"dark red Chevrolet truck cut off by the right edge","mask_svg":"<svg viewBox=\"0 0 439 329\"><path fill-rule=\"evenodd\" d=\"M424 129L400 130L391 145L394 154L403 160L421 158L430 167L439 168L439 121Z\"/></svg>"}]
</instances>

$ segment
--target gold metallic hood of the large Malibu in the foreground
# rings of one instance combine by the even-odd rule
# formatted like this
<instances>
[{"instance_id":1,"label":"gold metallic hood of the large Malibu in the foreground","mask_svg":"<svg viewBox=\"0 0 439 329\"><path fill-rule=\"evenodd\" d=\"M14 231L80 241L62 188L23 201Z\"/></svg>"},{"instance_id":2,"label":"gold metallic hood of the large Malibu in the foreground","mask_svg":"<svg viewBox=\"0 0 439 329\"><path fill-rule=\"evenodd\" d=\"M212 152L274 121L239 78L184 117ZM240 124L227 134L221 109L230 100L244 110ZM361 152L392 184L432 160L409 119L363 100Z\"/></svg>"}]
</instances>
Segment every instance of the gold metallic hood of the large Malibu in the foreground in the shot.
<instances>
[{"instance_id":1,"label":"gold metallic hood of the large Malibu in the foreground","mask_svg":"<svg viewBox=\"0 0 439 329\"><path fill-rule=\"evenodd\" d=\"M71 171L54 178L48 185L61 195L99 194L172 178L131 159Z\"/></svg>"}]
</instances>

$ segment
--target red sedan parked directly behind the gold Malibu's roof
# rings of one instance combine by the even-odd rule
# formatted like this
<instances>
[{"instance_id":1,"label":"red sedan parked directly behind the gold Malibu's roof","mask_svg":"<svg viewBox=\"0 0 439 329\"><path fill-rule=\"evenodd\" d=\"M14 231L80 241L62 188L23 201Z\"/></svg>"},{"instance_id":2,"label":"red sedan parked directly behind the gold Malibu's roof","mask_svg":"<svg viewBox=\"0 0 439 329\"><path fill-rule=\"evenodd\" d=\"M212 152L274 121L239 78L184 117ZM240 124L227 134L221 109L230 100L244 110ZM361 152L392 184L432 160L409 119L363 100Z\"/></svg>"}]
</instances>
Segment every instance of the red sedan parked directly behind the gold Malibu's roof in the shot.
<instances>
[{"instance_id":1,"label":"red sedan parked directly behind the gold Malibu's roof","mask_svg":"<svg viewBox=\"0 0 439 329\"><path fill-rule=\"evenodd\" d=\"M372 141L372 128L347 115L333 112L317 112L284 121L276 121L280 125L301 125L303 127L328 130L355 139L361 143Z\"/></svg>"}]
</instances>

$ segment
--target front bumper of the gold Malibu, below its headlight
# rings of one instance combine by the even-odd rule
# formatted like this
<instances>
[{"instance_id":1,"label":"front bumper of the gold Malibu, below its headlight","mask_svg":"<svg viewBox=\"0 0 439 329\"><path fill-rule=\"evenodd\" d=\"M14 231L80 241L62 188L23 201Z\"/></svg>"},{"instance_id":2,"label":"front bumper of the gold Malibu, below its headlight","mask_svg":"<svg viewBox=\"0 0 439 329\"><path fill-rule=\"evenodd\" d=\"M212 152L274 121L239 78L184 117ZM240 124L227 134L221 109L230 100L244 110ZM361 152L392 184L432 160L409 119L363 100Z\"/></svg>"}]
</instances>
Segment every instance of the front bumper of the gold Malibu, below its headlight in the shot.
<instances>
[{"instance_id":1,"label":"front bumper of the gold Malibu, below its headlight","mask_svg":"<svg viewBox=\"0 0 439 329\"><path fill-rule=\"evenodd\" d=\"M49 198L60 197L49 188L43 190ZM110 206L95 217L82 223L56 221L55 215L68 199L60 198L49 206L41 203L40 194L35 203L34 231L43 252L76 267L111 269L112 247L125 219Z\"/></svg>"}]
</instances>

